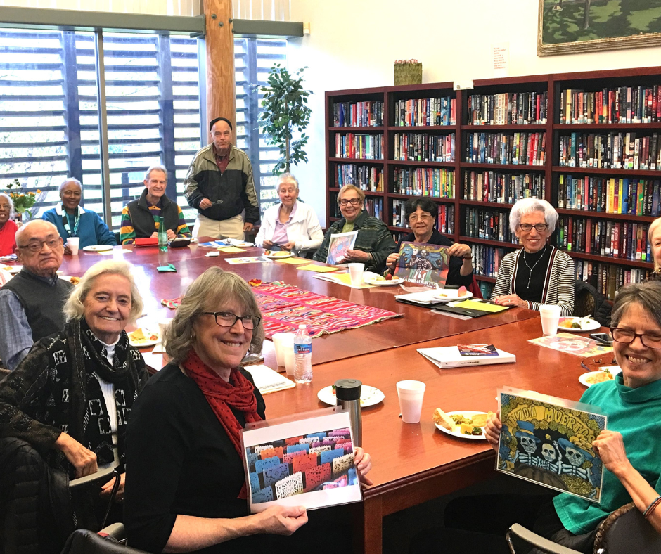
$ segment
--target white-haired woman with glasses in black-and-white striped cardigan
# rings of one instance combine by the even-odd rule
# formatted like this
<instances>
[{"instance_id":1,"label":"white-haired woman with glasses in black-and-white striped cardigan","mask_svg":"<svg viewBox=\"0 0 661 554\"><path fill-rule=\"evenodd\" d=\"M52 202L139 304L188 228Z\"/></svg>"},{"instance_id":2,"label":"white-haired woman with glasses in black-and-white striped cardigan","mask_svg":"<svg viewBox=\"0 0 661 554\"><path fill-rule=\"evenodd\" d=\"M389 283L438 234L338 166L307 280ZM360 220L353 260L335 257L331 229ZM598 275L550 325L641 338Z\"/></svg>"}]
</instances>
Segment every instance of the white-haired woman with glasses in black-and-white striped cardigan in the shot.
<instances>
[{"instance_id":1,"label":"white-haired woman with glasses in black-and-white striped cardigan","mask_svg":"<svg viewBox=\"0 0 661 554\"><path fill-rule=\"evenodd\" d=\"M574 262L553 245L558 212L537 198L513 205L510 229L523 246L503 257L492 298L496 304L539 310L540 304L557 304L562 316L574 311Z\"/></svg>"}]
</instances>

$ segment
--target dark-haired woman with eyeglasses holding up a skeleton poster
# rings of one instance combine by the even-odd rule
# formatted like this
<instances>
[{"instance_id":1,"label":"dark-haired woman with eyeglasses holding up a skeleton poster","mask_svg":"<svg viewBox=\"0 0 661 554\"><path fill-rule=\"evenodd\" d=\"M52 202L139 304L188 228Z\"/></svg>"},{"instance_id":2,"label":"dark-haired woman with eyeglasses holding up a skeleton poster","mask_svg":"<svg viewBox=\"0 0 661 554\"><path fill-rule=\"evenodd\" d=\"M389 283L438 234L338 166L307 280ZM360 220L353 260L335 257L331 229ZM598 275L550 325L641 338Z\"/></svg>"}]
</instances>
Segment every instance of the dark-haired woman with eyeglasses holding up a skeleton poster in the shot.
<instances>
[{"instance_id":1,"label":"dark-haired woman with eyeglasses holding up a skeleton poster","mask_svg":"<svg viewBox=\"0 0 661 554\"><path fill-rule=\"evenodd\" d=\"M473 256L471 255L470 246L453 243L437 231L435 228L438 216L436 202L429 198L411 198L406 200L404 214L413 233L409 233L399 240L397 252L393 252L385 261L387 269L394 271L395 266L397 266L399 247L403 242L447 246L450 262L446 284L463 285L468 288L473 283Z\"/></svg>"}]
</instances>

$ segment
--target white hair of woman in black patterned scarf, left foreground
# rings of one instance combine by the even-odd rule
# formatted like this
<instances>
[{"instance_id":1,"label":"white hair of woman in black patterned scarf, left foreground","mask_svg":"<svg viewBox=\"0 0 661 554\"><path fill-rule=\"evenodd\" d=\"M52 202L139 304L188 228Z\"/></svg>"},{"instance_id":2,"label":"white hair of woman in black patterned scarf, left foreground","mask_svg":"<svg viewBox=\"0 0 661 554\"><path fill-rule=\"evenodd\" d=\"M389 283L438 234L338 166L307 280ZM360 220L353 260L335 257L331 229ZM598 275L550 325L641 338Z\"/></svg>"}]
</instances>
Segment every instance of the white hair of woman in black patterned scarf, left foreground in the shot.
<instances>
[{"instance_id":1,"label":"white hair of woman in black patterned scarf, left foreground","mask_svg":"<svg viewBox=\"0 0 661 554\"><path fill-rule=\"evenodd\" d=\"M143 301L142 296L136 286L136 281L133 278L133 266L129 262L122 260L107 259L103 262L97 262L82 276L80 283L76 285L67 302L64 305L64 314L67 316L67 321L72 319L82 319L85 316L85 299L89 295L89 291L94 286L98 277L102 275L120 275L127 278L131 285L131 311L129 313L129 323L133 323L142 314Z\"/></svg>"}]
</instances>

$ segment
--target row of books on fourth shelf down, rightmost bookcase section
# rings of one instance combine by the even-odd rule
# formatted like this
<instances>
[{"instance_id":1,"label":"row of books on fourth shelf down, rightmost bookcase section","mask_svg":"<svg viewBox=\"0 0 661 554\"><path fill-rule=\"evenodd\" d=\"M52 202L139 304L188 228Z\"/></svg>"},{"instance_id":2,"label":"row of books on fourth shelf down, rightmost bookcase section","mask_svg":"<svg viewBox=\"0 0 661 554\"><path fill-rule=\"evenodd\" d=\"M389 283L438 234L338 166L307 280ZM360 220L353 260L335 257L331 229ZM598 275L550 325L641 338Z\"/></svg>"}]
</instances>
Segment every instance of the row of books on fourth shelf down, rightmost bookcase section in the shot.
<instances>
[{"instance_id":1,"label":"row of books on fourth shelf down, rightmost bookcase section","mask_svg":"<svg viewBox=\"0 0 661 554\"><path fill-rule=\"evenodd\" d=\"M556 245L569 252L650 262L648 224L560 216Z\"/></svg>"}]
</instances>

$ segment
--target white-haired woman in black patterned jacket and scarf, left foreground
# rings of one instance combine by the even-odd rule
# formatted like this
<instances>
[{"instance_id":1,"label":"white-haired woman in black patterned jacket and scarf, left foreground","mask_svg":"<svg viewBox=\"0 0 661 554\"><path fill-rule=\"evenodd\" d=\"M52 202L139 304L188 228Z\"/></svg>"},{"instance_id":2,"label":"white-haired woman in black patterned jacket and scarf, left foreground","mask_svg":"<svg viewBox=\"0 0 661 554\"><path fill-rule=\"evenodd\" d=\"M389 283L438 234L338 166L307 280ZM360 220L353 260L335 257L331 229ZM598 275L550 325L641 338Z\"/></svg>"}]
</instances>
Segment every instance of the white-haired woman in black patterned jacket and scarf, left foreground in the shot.
<instances>
[{"instance_id":1,"label":"white-haired woman in black patterned jacket and scarf, left foreground","mask_svg":"<svg viewBox=\"0 0 661 554\"><path fill-rule=\"evenodd\" d=\"M70 510L54 505L69 478L91 475L119 464L116 500L124 494L127 417L148 375L140 352L129 346L124 328L142 312L143 302L127 262L108 260L87 270L65 304L65 328L37 341L20 365L0 382L0 522L16 529L4 536L6 552L21 550L7 541L30 540L30 518L21 519L25 502L34 503L37 520L53 523L53 534L39 544L57 551L72 530L98 530L114 480L88 485L70 498ZM39 487L21 488L25 463ZM58 487L59 484L59 487ZM46 491L44 494L44 490ZM36 501L33 496L37 496ZM28 498L25 498L28 496ZM69 502L65 491L65 500ZM23 502L22 505L12 502ZM22 506L20 510L16 510Z\"/></svg>"}]
</instances>

